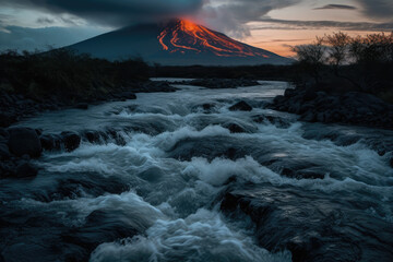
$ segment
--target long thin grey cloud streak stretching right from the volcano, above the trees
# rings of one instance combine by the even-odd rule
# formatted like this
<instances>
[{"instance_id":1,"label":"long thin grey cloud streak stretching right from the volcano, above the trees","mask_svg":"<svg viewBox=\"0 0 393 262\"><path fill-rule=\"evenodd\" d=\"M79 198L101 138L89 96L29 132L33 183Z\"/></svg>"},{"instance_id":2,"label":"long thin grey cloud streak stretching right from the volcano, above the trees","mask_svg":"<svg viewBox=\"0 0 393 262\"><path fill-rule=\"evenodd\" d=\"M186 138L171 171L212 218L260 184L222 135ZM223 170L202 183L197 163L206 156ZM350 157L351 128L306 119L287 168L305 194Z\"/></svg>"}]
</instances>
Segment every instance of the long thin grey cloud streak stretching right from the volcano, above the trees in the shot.
<instances>
[{"instance_id":1,"label":"long thin grey cloud streak stretching right from the volcano, above the trees","mask_svg":"<svg viewBox=\"0 0 393 262\"><path fill-rule=\"evenodd\" d=\"M267 26L254 26L253 29L306 29L306 28L337 28L343 31L383 31L391 32L392 23L367 23L367 22L338 22L338 21L298 21L262 19L260 22ZM273 26L272 26L273 24Z\"/></svg>"}]
</instances>

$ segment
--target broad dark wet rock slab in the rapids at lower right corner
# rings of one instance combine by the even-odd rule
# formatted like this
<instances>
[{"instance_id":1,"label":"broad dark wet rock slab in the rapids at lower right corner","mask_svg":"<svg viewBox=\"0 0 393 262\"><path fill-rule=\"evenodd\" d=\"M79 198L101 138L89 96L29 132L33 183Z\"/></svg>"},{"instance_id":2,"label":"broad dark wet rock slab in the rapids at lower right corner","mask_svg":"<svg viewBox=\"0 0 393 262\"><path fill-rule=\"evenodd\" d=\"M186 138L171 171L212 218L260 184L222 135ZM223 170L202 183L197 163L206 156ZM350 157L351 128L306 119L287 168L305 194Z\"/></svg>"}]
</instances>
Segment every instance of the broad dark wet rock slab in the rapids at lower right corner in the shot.
<instances>
[{"instance_id":1,"label":"broad dark wet rock slab in the rapids at lower right corner","mask_svg":"<svg viewBox=\"0 0 393 262\"><path fill-rule=\"evenodd\" d=\"M271 252L289 250L296 262L393 259L391 224L365 213L367 205L352 205L350 192L336 198L290 186L242 188L229 190L221 210L234 219L248 216L259 245Z\"/></svg>"}]
</instances>

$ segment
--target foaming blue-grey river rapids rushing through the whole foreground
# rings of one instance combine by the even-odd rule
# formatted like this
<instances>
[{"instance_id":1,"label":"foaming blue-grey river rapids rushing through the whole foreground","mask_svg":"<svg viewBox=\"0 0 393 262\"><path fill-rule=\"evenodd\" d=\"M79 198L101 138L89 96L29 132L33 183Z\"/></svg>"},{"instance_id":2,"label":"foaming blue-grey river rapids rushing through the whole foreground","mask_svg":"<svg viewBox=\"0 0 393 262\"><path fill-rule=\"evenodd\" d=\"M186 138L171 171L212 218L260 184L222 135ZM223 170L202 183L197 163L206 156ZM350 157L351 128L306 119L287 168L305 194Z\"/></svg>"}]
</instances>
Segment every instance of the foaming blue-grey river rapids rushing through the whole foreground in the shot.
<instances>
[{"instance_id":1,"label":"foaming blue-grey river rapids rushing through the whole foreground","mask_svg":"<svg viewBox=\"0 0 393 262\"><path fill-rule=\"evenodd\" d=\"M332 222L329 233L345 224L338 235L360 241L355 252L345 238L329 238L336 242L326 253L343 249L337 260L392 261L391 132L301 123L265 109L284 82L176 86L21 122L45 133L110 130L118 139L45 152L36 178L1 181L0 261L290 261L281 236L312 235L318 226L301 225L321 221ZM230 111L238 100L253 110ZM245 132L231 133L234 123ZM276 205L285 219L261 226L228 215L221 203L230 190Z\"/></svg>"}]
</instances>

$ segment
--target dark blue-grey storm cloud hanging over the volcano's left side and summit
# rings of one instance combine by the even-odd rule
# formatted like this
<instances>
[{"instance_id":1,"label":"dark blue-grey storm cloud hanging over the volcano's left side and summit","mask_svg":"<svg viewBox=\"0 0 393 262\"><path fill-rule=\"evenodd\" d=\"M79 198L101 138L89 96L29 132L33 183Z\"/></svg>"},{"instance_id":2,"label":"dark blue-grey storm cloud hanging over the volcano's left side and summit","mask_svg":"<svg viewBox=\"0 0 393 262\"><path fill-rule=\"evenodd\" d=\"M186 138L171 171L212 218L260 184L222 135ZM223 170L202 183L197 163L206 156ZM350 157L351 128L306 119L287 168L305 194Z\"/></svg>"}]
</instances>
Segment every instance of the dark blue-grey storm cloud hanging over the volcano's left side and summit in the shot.
<instances>
[{"instance_id":1,"label":"dark blue-grey storm cloud hanging over the volcano's left side and summit","mask_svg":"<svg viewBox=\"0 0 393 262\"><path fill-rule=\"evenodd\" d=\"M184 14L199 10L202 4L203 0L0 0L0 5L69 13L110 25Z\"/></svg>"}]
</instances>

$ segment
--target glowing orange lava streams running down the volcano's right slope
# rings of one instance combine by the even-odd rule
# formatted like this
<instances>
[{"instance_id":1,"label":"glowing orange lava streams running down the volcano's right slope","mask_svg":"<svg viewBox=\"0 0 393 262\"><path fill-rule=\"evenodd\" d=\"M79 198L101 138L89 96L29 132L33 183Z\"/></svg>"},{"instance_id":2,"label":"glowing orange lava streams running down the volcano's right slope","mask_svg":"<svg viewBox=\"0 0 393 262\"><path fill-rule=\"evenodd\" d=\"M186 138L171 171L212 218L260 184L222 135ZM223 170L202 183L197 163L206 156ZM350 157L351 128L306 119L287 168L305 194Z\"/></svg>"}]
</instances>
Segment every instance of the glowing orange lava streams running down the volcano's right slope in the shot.
<instances>
[{"instance_id":1,"label":"glowing orange lava streams running down the volcano's right slope","mask_svg":"<svg viewBox=\"0 0 393 262\"><path fill-rule=\"evenodd\" d=\"M260 56L269 58L258 48L236 41L224 34L186 20L168 23L157 39L163 49L169 52L213 52L219 57Z\"/></svg>"}]
</instances>

